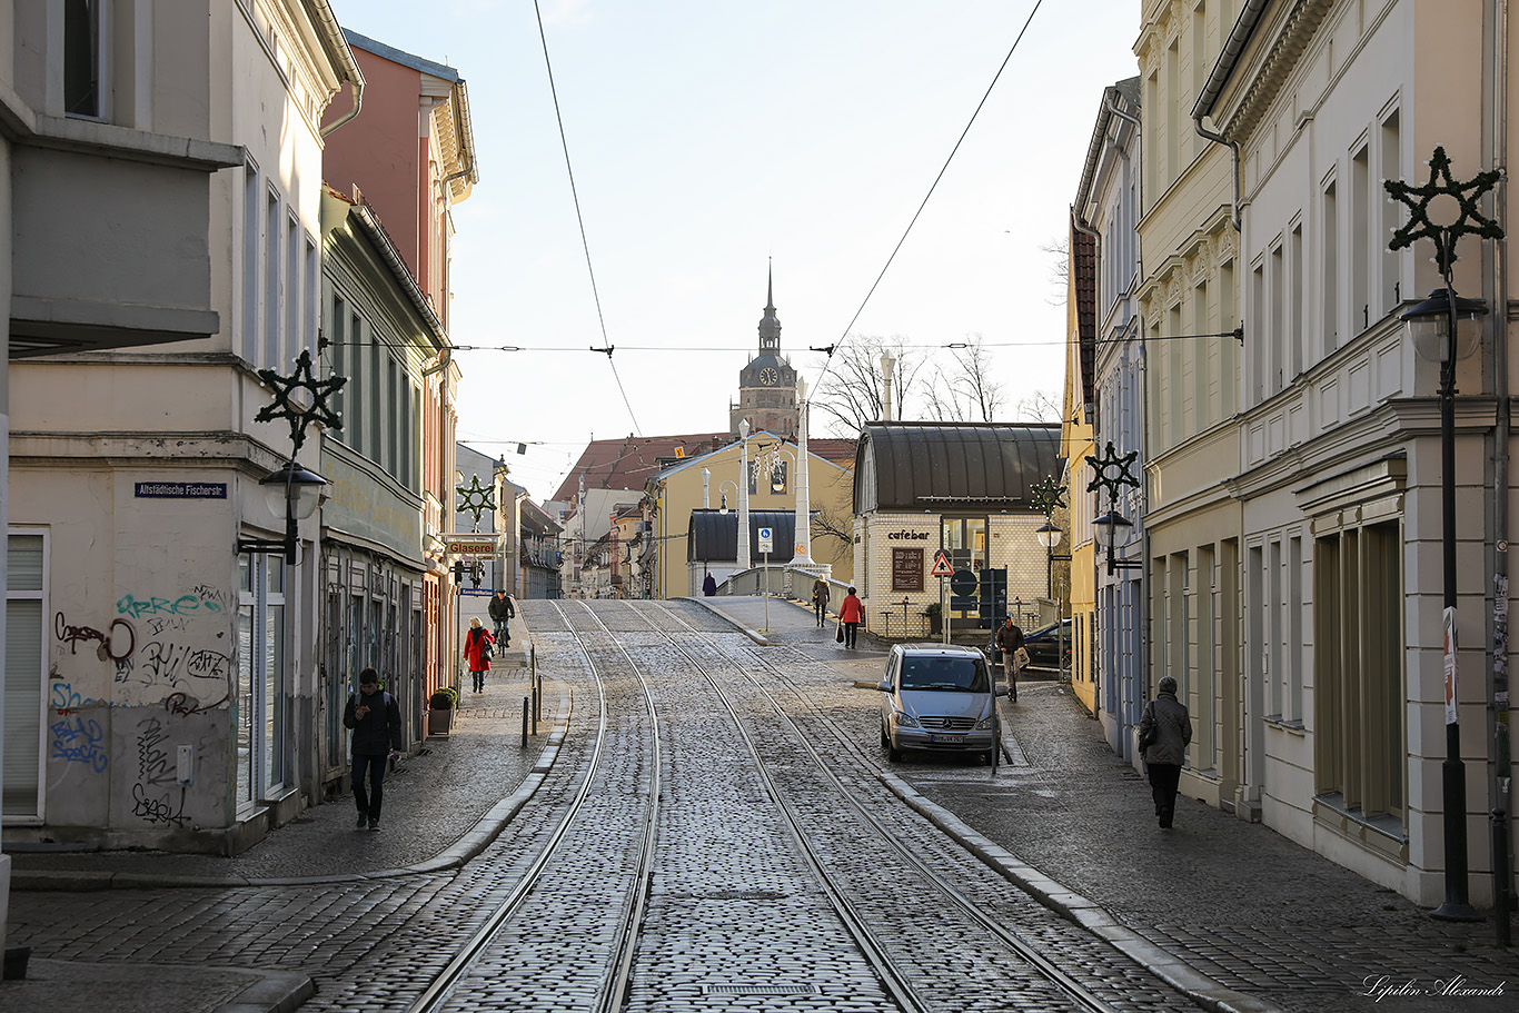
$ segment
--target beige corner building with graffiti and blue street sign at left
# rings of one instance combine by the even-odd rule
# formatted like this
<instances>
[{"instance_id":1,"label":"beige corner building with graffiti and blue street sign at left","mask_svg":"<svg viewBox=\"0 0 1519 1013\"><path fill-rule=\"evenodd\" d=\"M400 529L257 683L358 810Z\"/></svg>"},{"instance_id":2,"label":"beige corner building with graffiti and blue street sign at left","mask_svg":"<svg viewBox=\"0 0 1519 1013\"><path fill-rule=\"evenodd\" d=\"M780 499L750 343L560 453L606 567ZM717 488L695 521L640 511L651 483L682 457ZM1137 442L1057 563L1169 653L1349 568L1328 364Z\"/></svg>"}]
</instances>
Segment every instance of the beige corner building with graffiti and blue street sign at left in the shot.
<instances>
[{"instance_id":1,"label":"beige corner building with graffiti and blue street sign at left","mask_svg":"<svg viewBox=\"0 0 1519 1013\"><path fill-rule=\"evenodd\" d=\"M254 421L257 371L317 354L321 115L363 76L322 0L6 6L30 106L8 128L11 232L38 240L17 249L11 355L18 333L55 352L11 371L29 618L8 652L24 635L36 668L8 679L29 694L6 718L8 835L232 854L321 778L319 521L293 565L242 547L287 535L261 480L295 443ZM38 131L62 143L32 150Z\"/></svg>"}]
</instances>

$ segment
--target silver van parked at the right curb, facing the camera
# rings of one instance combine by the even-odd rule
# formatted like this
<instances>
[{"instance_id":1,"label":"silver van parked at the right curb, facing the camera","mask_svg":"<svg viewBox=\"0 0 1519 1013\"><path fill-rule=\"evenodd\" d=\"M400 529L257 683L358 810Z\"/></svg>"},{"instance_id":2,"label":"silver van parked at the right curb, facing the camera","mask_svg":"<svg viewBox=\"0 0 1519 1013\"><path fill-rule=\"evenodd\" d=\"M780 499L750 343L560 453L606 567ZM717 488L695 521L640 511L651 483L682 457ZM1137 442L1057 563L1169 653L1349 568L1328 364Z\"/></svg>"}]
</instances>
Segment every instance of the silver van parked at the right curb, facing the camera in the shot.
<instances>
[{"instance_id":1,"label":"silver van parked at the right curb, facing the camera","mask_svg":"<svg viewBox=\"0 0 1519 1013\"><path fill-rule=\"evenodd\" d=\"M886 658L881 746L898 761L908 749L977 753L995 761L996 708L986 655L974 647L898 644Z\"/></svg>"}]
</instances>

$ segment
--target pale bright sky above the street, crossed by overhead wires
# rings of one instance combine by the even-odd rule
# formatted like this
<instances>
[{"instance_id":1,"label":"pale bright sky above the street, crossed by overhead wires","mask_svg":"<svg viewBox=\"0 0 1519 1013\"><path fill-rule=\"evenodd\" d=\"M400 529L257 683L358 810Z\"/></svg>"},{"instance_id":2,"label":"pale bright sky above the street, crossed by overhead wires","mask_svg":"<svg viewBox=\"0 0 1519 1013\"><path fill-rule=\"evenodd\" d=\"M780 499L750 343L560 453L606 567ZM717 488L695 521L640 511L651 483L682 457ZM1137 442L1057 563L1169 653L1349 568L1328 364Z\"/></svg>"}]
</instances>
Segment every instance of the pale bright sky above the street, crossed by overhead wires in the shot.
<instances>
[{"instance_id":1,"label":"pale bright sky above the street, crossed by overhead wires","mask_svg":"<svg viewBox=\"0 0 1519 1013\"><path fill-rule=\"evenodd\" d=\"M468 84L459 439L539 503L591 439L726 431L767 270L810 386L808 348L980 337L1006 404L1059 402L1048 248L1138 73L1136 0L539 0L542 36L533 0L330 3Z\"/></svg>"}]
</instances>

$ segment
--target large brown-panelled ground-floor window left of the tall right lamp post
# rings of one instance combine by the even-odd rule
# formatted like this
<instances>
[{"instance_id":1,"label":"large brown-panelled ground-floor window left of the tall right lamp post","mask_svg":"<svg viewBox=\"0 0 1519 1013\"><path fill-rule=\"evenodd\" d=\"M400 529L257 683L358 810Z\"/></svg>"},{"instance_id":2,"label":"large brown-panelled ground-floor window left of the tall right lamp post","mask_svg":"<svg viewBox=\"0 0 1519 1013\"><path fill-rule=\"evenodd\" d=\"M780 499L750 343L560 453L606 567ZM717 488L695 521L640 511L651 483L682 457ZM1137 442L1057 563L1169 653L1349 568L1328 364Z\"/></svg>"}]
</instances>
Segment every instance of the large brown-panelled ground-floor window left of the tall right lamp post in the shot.
<instances>
[{"instance_id":1,"label":"large brown-panelled ground-floor window left of the tall right lamp post","mask_svg":"<svg viewBox=\"0 0 1519 1013\"><path fill-rule=\"evenodd\" d=\"M1317 790L1361 819L1402 820L1407 785L1399 524L1314 541Z\"/></svg>"}]
</instances>

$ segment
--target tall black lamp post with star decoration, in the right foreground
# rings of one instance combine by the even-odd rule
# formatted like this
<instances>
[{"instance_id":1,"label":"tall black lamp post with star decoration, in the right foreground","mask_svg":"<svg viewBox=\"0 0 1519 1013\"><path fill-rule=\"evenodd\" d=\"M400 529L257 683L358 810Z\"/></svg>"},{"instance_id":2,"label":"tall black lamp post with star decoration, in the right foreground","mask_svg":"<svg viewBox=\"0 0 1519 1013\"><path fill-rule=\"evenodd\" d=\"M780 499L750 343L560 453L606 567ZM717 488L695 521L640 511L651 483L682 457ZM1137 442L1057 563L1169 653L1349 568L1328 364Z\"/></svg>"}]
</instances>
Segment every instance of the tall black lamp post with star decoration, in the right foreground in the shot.
<instances>
[{"instance_id":1,"label":"tall black lamp post with star decoration, in the right foreground","mask_svg":"<svg viewBox=\"0 0 1519 1013\"><path fill-rule=\"evenodd\" d=\"M1417 238L1435 241L1435 264L1442 287L1423 302L1404 311L1414 351L1440 363L1440 509L1442 509L1442 570L1443 570L1443 682L1445 682L1445 762L1442 764L1442 803L1445 806L1445 904L1431 911L1432 917L1449 922L1475 922L1481 914L1467 901L1466 861L1466 764L1461 761L1460 696L1457 693L1457 612L1455 612L1455 361L1481 345L1486 304L1461 299L1451 281L1455 263L1455 241L1463 235L1502 238L1502 228L1484 217L1476 202L1501 179L1498 172L1478 173L1476 179L1458 184L1451 178L1451 159L1443 147L1435 147L1429 159L1429 182L1411 187L1388 179L1384 187L1391 199L1408 207L1410 219L1393 232L1388 249L1411 246ZM1431 202L1443 197L1437 213L1449 210L1454 200L1460 214L1449 225L1431 220ZM1504 323L1507 327L1507 322ZM1495 686L1496 690L1496 686ZM1507 724L1507 685L1502 686L1499 727ZM1499 732L1501 734L1501 732ZM1505 776L1501 772L1498 776ZM1493 813L1493 902L1498 913L1499 942L1508 942L1508 819L1499 806Z\"/></svg>"}]
</instances>

